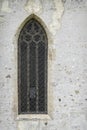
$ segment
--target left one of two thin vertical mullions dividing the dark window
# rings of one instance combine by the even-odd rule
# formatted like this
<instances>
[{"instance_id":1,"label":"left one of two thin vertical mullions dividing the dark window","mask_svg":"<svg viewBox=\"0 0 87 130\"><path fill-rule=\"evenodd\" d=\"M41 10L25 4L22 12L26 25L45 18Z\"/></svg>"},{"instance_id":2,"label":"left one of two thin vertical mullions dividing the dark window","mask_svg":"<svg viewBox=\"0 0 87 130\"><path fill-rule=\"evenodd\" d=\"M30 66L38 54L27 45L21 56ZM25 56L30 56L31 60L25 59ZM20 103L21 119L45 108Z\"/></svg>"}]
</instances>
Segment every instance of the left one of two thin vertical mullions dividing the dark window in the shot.
<instances>
[{"instance_id":1,"label":"left one of two thin vertical mullions dividing the dark window","mask_svg":"<svg viewBox=\"0 0 87 130\"><path fill-rule=\"evenodd\" d=\"M27 46L27 112L29 112L29 44Z\"/></svg>"}]
</instances>

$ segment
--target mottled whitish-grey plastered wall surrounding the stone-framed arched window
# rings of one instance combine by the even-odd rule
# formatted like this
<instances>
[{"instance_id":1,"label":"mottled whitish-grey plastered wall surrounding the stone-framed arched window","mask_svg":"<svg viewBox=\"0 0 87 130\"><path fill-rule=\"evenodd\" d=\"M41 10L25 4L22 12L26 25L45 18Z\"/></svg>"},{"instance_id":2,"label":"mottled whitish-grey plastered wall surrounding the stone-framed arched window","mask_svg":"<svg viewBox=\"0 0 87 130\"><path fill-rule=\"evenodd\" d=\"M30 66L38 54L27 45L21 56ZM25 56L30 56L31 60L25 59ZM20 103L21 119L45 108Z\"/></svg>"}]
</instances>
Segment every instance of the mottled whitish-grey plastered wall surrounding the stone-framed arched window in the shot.
<instances>
[{"instance_id":1,"label":"mottled whitish-grey plastered wall surrounding the stone-framed arched window","mask_svg":"<svg viewBox=\"0 0 87 130\"><path fill-rule=\"evenodd\" d=\"M18 121L14 41L32 13L45 23L52 41L52 117ZM86 0L0 0L0 130L87 130Z\"/></svg>"}]
</instances>

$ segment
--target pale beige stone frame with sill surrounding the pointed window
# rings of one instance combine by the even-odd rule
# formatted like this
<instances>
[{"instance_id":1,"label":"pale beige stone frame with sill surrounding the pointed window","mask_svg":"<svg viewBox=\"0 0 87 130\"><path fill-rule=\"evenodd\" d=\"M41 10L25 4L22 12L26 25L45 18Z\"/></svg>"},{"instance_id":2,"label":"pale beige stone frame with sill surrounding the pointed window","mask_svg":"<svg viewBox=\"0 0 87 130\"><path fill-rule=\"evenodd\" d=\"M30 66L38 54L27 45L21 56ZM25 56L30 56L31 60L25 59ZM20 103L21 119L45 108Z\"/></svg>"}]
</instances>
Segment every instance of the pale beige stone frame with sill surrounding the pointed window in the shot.
<instances>
[{"instance_id":1,"label":"pale beige stone frame with sill surrounding the pointed window","mask_svg":"<svg viewBox=\"0 0 87 130\"><path fill-rule=\"evenodd\" d=\"M29 21L30 19L35 18L45 29L45 32L47 34L48 37L48 84L47 84L47 96L48 96L48 113L47 114L18 114L18 38L19 38L19 34L21 29L23 28L23 26L26 24L27 21ZM22 23L22 24L21 24ZM52 119L52 112L53 112L53 90L52 90L52 84L51 84L51 57L50 55L52 55L52 51L51 51L51 47L50 45L52 44L52 36L47 28L47 26L44 24L44 22L35 14L31 14L29 17L25 18L19 25L19 28L15 34L15 39L14 39L14 46L15 46L15 61L16 61L16 75L15 75L15 95L14 95L14 109L16 111L16 120L32 120L32 119Z\"/></svg>"}]
</instances>

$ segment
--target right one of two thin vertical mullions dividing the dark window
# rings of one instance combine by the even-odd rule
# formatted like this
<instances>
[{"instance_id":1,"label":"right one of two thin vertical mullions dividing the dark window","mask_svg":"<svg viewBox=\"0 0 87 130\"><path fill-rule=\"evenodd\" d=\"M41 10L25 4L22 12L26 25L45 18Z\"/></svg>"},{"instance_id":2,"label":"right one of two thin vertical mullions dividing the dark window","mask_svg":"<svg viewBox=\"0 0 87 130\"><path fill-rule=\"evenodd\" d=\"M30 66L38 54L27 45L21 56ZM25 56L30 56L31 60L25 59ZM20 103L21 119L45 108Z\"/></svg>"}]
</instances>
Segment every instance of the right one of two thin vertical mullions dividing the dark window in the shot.
<instances>
[{"instance_id":1,"label":"right one of two thin vertical mullions dividing the dark window","mask_svg":"<svg viewBox=\"0 0 87 130\"><path fill-rule=\"evenodd\" d=\"M36 112L38 113L38 44L36 43Z\"/></svg>"}]
</instances>

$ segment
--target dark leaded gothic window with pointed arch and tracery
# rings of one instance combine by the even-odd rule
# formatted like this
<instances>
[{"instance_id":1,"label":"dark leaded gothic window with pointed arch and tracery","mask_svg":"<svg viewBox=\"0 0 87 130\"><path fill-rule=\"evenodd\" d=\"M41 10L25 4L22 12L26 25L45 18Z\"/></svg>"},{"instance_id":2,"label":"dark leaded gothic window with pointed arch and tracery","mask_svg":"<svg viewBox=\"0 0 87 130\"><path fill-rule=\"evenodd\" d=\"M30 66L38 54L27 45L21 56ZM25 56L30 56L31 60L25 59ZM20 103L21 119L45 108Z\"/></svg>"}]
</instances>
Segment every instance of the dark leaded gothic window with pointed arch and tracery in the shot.
<instances>
[{"instance_id":1,"label":"dark leaded gothic window with pointed arch and tracery","mask_svg":"<svg viewBox=\"0 0 87 130\"><path fill-rule=\"evenodd\" d=\"M18 39L18 113L47 113L48 40L34 18L22 28Z\"/></svg>"}]
</instances>

